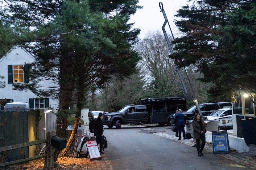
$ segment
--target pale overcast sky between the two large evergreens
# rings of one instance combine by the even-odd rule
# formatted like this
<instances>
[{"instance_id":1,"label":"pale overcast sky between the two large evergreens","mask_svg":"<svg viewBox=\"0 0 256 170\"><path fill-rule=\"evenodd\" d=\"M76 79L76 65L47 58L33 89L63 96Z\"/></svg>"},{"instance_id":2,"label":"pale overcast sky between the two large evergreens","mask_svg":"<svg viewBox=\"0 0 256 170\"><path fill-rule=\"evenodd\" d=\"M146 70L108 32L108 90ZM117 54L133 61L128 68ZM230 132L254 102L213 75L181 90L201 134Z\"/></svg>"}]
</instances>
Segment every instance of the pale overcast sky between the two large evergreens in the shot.
<instances>
[{"instance_id":1,"label":"pale overcast sky between the two large evergreens","mask_svg":"<svg viewBox=\"0 0 256 170\"><path fill-rule=\"evenodd\" d=\"M162 32L162 26L164 23L163 12L160 12L159 2L163 3L163 9L171 26L171 30L174 37L178 36L178 29L174 24L174 17L177 14L177 10L182 6L186 6L187 0L139 0L138 5L143 6L141 10L131 16L129 23L135 22L134 28L140 28L140 39L145 37L148 31L160 30ZM168 26L168 24L166 25ZM169 28L165 27L168 32Z\"/></svg>"}]
</instances>

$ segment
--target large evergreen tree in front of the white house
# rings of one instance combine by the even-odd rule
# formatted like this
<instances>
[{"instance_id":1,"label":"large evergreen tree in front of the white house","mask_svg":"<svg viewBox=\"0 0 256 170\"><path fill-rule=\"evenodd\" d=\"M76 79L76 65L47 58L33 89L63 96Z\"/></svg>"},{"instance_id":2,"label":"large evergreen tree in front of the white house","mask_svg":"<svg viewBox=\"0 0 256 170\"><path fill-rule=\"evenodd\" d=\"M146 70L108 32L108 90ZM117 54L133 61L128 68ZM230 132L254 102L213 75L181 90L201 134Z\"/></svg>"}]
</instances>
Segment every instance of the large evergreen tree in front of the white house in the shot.
<instances>
[{"instance_id":1,"label":"large evergreen tree in front of the white house","mask_svg":"<svg viewBox=\"0 0 256 170\"><path fill-rule=\"evenodd\" d=\"M131 30L133 24L127 22L141 8L137 3L138 0L112 4L106 0L8 1L1 11L1 21L18 33L15 44L27 47L38 57L29 70L24 70L30 74L31 84L15 85L14 89L58 98L58 125L67 125L68 109L76 107L78 122L84 94L92 85L101 86L114 76L128 77L135 71L140 58L132 45L140 31ZM40 77L56 80L59 89L40 90ZM58 136L64 137L65 132L65 128L57 126Z\"/></svg>"}]
</instances>

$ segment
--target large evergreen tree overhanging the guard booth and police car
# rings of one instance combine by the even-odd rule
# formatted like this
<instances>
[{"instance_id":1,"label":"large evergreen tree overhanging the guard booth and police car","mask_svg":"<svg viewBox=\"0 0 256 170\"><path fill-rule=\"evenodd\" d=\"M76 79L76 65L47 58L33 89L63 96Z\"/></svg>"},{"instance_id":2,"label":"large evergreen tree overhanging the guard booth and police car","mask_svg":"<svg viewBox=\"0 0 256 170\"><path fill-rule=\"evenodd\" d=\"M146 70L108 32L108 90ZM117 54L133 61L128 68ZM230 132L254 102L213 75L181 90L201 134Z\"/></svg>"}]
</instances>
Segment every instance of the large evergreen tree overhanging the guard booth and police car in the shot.
<instances>
[{"instance_id":1,"label":"large evergreen tree overhanging the guard booth and police car","mask_svg":"<svg viewBox=\"0 0 256 170\"><path fill-rule=\"evenodd\" d=\"M182 58L179 66L195 65L215 100L231 99L237 90L256 92L255 20L256 2L200 0L178 10L176 26L184 36L175 39ZM175 48L175 49L178 49Z\"/></svg>"}]
</instances>

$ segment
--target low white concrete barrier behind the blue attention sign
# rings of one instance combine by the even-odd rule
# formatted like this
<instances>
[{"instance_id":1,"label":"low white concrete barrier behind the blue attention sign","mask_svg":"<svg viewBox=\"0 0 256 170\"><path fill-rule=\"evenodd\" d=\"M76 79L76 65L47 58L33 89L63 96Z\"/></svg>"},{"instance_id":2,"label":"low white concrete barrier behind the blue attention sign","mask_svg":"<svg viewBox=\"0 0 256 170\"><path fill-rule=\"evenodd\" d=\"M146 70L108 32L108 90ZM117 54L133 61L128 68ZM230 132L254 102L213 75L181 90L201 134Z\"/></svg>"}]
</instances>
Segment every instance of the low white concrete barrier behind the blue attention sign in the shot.
<instances>
[{"instance_id":1,"label":"low white concrete barrier behind the blue attention sign","mask_svg":"<svg viewBox=\"0 0 256 170\"><path fill-rule=\"evenodd\" d=\"M213 143L212 132L206 132L205 134L206 142ZM237 137L228 134L229 138L229 148L231 150L236 150L237 153L250 152L249 147L246 145L244 138Z\"/></svg>"}]
</instances>

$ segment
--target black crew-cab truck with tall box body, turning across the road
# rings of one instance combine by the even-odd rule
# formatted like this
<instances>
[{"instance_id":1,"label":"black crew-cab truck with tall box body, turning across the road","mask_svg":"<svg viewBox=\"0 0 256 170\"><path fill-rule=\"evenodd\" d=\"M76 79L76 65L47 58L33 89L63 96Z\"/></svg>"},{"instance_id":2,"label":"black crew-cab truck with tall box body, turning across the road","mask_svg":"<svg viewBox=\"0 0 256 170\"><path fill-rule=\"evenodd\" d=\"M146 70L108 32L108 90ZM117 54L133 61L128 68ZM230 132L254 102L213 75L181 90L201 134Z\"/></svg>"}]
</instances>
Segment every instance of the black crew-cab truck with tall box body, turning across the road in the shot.
<instances>
[{"instance_id":1,"label":"black crew-cab truck with tall box body, turning across the road","mask_svg":"<svg viewBox=\"0 0 256 170\"><path fill-rule=\"evenodd\" d=\"M127 124L151 124L171 126L171 114L177 109L186 109L185 97L141 99L140 105L126 105L117 112L103 115L104 125L116 129Z\"/></svg>"}]
</instances>

